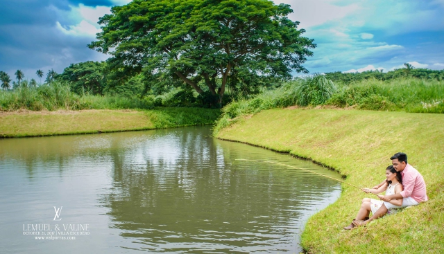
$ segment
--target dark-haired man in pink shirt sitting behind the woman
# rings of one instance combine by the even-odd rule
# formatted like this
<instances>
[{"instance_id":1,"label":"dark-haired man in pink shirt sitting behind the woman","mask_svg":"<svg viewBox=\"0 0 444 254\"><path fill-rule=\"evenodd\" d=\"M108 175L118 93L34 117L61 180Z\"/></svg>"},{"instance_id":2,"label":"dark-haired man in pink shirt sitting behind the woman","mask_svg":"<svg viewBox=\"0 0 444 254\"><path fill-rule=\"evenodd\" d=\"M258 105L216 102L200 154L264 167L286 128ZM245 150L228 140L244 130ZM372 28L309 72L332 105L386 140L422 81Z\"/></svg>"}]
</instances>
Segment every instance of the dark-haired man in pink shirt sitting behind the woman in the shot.
<instances>
[{"instance_id":1,"label":"dark-haired man in pink shirt sitting behind the woman","mask_svg":"<svg viewBox=\"0 0 444 254\"><path fill-rule=\"evenodd\" d=\"M421 202L429 200L426 193L425 182L422 175L407 163L407 154L403 152L398 152L391 156L391 163L396 171L401 172L402 175L402 185L404 185L404 190L398 194L393 194L389 196L378 195L379 199L384 201L384 204L379 208L375 214L370 217L367 221L356 221L354 224L356 226L365 225L373 219L384 216L388 209L399 208L388 201L392 199L402 199L402 206L416 206Z\"/></svg>"}]
</instances>

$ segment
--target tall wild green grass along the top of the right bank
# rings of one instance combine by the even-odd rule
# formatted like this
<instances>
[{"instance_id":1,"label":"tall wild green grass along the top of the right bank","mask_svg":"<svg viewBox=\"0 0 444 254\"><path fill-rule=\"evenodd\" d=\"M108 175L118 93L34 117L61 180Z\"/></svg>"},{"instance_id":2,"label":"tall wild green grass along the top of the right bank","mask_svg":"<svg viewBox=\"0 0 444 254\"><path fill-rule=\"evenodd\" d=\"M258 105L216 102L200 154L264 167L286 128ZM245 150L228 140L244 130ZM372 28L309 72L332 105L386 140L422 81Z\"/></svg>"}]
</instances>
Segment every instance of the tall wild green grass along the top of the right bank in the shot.
<instances>
[{"instance_id":1,"label":"tall wild green grass along the top of the right bank","mask_svg":"<svg viewBox=\"0 0 444 254\"><path fill-rule=\"evenodd\" d=\"M399 78L361 80L352 84L334 84L323 75L293 80L278 89L264 91L250 100L236 100L222 109L214 127L219 130L236 123L240 116L264 109L290 106L330 105L357 109L444 113L444 81Z\"/></svg>"}]
</instances>

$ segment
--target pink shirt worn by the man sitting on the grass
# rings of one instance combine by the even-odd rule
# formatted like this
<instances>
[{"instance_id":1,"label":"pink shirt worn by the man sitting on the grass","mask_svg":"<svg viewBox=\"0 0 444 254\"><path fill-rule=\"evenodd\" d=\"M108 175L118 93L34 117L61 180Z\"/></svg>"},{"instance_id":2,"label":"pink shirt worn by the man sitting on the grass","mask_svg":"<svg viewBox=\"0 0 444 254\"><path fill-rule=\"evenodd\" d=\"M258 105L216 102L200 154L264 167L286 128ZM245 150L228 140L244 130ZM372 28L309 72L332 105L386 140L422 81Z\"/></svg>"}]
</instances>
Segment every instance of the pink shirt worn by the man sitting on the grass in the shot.
<instances>
[{"instance_id":1,"label":"pink shirt worn by the man sitting on the grass","mask_svg":"<svg viewBox=\"0 0 444 254\"><path fill-rule=\"evenodd\" d=\"M418 203L429 200L426 193L425 181L418 170L410 164L407 164L404 170L401 171L401 174L402 185L404 185L404 190L400 192L402 197L412 197L418 201Z\"/></svg>"}]
</instances>

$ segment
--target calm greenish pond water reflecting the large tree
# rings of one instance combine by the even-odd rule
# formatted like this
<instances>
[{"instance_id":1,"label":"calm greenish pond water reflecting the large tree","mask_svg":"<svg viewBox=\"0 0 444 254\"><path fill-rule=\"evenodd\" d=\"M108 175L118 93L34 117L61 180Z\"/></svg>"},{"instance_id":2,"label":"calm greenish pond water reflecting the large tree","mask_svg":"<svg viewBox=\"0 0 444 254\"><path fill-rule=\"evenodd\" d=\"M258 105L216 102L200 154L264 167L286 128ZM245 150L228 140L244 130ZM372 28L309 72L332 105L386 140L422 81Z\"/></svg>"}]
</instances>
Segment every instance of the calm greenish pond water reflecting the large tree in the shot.
<instances>
[{"instance_id":1,"label":"calm greenish pond water reflecting the large tree","mask_svg":"<svg viewBox=\"0 0 444 254\"><path fill-rule=\"evenodd\" d=\"M185 127L0 140L0 253L298 253L305 222L340 185L235 159L339 175L210 134ZM89 235L60 235L79 232Z\"/></svg>"}]
</instances>

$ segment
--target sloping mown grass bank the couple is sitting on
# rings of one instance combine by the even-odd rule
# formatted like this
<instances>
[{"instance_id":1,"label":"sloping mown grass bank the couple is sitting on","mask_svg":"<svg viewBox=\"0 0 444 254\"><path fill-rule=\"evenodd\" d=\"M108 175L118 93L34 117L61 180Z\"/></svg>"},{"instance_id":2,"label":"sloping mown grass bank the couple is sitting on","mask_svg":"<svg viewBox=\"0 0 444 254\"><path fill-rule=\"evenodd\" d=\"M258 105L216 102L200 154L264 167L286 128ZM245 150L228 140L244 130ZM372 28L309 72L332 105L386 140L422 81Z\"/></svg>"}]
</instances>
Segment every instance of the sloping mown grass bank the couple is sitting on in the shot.
<instances>
[{"instance_id":1,"label":"sloping mown grass bank the couple is sitting on","mask_svg":"<svg viewBox=\"0 0 444 254\"><path fill-rule=\"evenodd\" d=\"M309 253L444 252L444 115L341 109L270 109L219 129L217 137L311 158L371 187L385 177L389 157L409 155L427 183L429 201L365 228L343 230L370 197L343 185L338 201L307 222Z\"/></svg>"}]
</instances>

